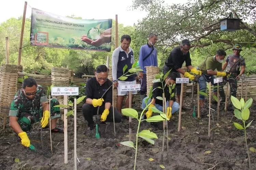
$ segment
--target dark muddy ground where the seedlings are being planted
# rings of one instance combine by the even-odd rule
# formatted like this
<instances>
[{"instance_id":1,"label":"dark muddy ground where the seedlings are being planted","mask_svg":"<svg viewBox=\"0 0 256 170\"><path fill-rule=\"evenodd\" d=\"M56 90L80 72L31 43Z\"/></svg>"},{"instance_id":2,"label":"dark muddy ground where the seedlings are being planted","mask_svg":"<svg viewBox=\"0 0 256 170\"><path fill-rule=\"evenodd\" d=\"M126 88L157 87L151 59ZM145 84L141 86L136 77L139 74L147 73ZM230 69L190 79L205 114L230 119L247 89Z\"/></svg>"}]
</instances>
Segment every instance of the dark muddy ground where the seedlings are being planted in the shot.
<instances>
[{"instance_id":1,"label":"dark muddy ground where the seedlings are being planted","mask_svg":"<svg viewBox=\"0 0 256 170\"><path fill-rule=\"evenodd\" d=\"M191 97L185 102L191 107ZM197 104L196 101L194 102ZM136 103L138 111L139 104ZM135 107L134 107L135 108ZM248 120L256 119L256 105L251 107L251 116ZM208 137L208 118L195 119L192 117L193 109L182 112L182 130L177 132L178 114L173 114L168 123L169 153L167 146L163 154L163 162L160 162L163 130L162 123L141 124L140 130L150 129L157 134L155 145L139 140L137 157L138 170L158 170L159 165L168 170L248 170L248 159L244 141L244 133L237 130L233 122L232 112L221 111L220 120L217 121L217 112L213 112L214 125L211 124L211 138ZM241 123L240 121L237 121ZM218 123L218 124L216 124ZM63 127L62 121L59 126ZM9 124L8 124L9 125ZM137 120L132 120L132 140L135 143L137 132ZM77 115L77 157L80 170L130 170L133 169L135 151L119 142L129 140L128 120L116 124L116 138L114 137L113 123L100 124L100 139L95 139L95 131L89 131L87 123L81 113ZM31 143L37 148L37 152L30 151L21 145L18 136L7 127L0 132L0 169L15 170L72 170L74 168L74 139L73 118L68 124L68 164L64 164L63 134L52 134L53 153L51 153L49 131L43 130L43 146L41 143L40 124L34 125L33 132L29 135ZM247 129L248 146L256 148L255 121ZM166 141L166 139L165 139ZM205 151L211 151L205 155ZM253 169L256 169L256 153L251 154ZM19 158L19 163L14 159ZM148 158L153 158L150 162ZM212 165L209 165L212 164Z\"/></svg>"}]
</instances>

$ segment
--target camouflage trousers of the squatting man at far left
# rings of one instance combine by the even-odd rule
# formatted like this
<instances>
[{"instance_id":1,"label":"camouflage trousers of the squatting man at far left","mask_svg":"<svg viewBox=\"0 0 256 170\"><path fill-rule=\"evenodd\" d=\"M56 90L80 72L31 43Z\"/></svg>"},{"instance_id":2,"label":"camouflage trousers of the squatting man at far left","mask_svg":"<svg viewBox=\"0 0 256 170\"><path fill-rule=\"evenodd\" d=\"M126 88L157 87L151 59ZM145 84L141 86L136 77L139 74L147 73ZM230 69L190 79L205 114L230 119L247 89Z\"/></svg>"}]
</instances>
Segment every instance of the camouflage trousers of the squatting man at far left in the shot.
<instances>
[{"instance_id":1,"label":"camouflage trousers of the squatting man at far left","mask_svg":"<svg viewBox=\"0 0 256 170\"><path fill-rule=\"evenodd\" d=\"M57 99L51 99L51 119L60 117L60 108L53 107L59 105L59 101ZM18 123L20 128L27 133L30 133L33 123L39 122L43 117L43 106L41 105L38 113L21 113L21 116L18 118Z\"/></svg>"}]
</instances>

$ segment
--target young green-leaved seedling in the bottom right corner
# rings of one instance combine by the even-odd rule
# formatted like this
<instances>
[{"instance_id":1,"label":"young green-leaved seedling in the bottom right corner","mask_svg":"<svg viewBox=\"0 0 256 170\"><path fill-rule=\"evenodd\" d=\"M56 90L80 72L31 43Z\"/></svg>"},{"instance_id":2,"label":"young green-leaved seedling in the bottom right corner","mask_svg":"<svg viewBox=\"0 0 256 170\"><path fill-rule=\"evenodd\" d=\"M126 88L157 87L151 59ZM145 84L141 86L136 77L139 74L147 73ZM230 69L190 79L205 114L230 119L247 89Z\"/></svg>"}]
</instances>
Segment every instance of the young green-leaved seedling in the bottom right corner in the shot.
<instances>
[{"instance_id":1,"label":"young green-leaved seedling in the bottom right corner","mask_svg":"<svg viewBox=\"0 0 256 170\"><path fill-rule=\"evenodd\" d=\"M231 96L231 102L232 102L233 106L236 107L236 109L234 109L234 116L237 119L242 120L242 122L243 122L242 125L237 122L234 122L234 126L239 130L244 130L244 139L245 139L245 145L246 145L246 150L247 150L247 154L248 154L249 169L251 170L252 167L251 167L250 152L248 149L247 139L246 139L246 128L248 128L252 124L253 120L250 121L246 126L245 126L245 121L248 120L250 117L249 108L251 107L251 105L253 103L253 99L250 98L245 102L243 98L241 98L239 101L237 98Z\"/></svg>"}]
</instances>

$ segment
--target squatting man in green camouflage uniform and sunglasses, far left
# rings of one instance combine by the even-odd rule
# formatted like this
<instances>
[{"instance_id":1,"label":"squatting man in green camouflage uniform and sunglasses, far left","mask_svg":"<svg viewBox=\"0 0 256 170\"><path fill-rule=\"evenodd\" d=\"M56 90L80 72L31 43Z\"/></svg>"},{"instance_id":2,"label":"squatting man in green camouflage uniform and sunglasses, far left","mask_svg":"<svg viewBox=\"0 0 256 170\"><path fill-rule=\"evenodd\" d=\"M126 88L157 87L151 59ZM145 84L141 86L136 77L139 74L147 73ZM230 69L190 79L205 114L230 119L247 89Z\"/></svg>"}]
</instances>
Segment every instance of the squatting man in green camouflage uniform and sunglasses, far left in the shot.
<instances>
[{"instance_id":1,"label":"squatting man in green camouflage uniform and sunglasses, far left","mask_svg":"<svg viewBox=\"0 0 256 170\"><path fill-rule=\"evenodd\" d=\"M30 147L30 140L27 133L30 133L32 124L41 120L42 128L49 123L49 108L51 109L51 131L63 132L56 128L57 118L60 117L60 108L57 99L51 99L49 107L46 92L42 86L37 85L33 78L23 81L22 88L15 94L10 107L10 126L21 138L22 145Z\"/></svg>"}]
</instances>

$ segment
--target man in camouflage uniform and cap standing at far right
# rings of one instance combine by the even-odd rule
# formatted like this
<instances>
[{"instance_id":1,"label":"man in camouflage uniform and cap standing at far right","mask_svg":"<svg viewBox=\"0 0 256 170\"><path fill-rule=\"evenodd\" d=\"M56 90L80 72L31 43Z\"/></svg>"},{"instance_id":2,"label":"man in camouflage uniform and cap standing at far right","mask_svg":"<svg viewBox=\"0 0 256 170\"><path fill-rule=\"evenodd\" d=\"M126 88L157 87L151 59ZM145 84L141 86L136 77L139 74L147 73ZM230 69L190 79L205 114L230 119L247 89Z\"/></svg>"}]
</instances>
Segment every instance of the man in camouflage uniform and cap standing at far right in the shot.
<instances>
[{"instance_id":1,"label":"man in camouflage uniform and cap standing at far right","mask_svg":"<svg viewBox=\"0 0 256 170\"><path fill-rule=\"evenodd\" d=\"M240 55L241 51L242 47L240 44L234 45L233 54L228 55L225 64L222 66L222 70L227 68L227 71L230 72L229 76L223 78L222 85L229 82L230 95L234 97L237 97L237 81L245 70L245 59ZM241 71L239 71L240 67Z\"/></svg>"}]
</instances>

